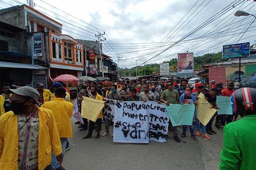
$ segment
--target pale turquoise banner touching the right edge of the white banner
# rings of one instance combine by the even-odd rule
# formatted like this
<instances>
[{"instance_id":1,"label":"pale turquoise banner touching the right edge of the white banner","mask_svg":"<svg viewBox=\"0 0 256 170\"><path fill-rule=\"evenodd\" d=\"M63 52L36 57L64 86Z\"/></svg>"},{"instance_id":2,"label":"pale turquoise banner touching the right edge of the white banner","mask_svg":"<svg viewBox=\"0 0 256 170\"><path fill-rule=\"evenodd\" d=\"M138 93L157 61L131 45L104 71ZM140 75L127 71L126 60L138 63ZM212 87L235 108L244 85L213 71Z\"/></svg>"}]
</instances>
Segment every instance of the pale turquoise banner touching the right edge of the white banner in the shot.
<instances>
[{"instance_id":1,"label":"pale turquoise banner touching the right edge of the white banner","mask_svg":"<svg viewBox=\"0 0 256 170\"><path fill-rule=\"evenodd\" d=\"M192 125L195 105L194 104L170 104L165 106L172 126Z\"/></svg>"}]
</instances>

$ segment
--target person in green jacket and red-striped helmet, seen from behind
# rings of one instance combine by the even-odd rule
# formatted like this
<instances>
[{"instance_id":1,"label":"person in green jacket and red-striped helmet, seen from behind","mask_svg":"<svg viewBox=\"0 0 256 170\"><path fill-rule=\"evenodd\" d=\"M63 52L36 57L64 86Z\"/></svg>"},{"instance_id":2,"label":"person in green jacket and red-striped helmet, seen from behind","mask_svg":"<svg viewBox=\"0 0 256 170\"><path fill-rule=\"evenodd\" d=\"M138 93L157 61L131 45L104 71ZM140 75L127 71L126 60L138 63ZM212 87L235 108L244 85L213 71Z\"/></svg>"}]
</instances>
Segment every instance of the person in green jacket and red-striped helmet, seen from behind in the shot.
<instances>
[{"instance_id":1,"label":"person in green jacket and red-striped helmet, seen from behind","mask_svg":"<svg viewBox=\"0 0 256 170\"><path fill-rule=\"evenodd\" d=\"M241 88L230 98L241 119L224 128L220 170L256 169L256 89Z\"/></svg>"}]
</instances>

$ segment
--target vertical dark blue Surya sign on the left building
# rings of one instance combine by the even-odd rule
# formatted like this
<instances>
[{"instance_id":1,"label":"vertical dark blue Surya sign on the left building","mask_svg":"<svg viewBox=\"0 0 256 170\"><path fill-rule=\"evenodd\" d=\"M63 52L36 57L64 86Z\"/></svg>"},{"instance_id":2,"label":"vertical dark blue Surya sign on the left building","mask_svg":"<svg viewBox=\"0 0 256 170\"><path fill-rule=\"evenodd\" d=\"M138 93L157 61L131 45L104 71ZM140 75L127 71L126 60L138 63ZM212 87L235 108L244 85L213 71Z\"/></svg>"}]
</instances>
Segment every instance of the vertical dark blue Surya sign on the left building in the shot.
<instances>
[{"instance_id":1,"label":"vertical dark blue Surya sign on the left building","mask_svg":"<svg viewBox=\"0 0 256 170\"><path fill-rule=\"evenodd\" d=\"M34 57L44 56L44 34L33 34Z\"/></svg>"}]
</instances>

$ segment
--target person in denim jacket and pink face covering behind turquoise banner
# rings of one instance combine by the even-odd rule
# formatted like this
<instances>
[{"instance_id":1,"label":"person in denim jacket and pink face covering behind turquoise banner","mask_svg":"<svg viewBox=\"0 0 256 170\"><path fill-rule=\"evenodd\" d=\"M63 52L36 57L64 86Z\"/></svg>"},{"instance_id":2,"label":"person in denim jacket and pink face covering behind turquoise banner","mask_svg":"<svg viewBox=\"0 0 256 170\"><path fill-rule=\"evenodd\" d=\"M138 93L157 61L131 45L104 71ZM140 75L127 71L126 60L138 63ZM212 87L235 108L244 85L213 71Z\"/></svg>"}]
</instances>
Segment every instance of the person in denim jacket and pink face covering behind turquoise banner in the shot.
<instances>
[{"instance_id":1,"label":"person in denim jacket and pink face covering behind turquoise banner","mask_svg":"<svg viewBox=\"0 0 256 170\"><path fill-rule=\"evenodd\" d=\"M195 106L197 106L196 97L191 95L190 87L186 87L185 93L180 96L180 103L181 104L192 104L193 103ZM196 109L194 111L194 116L196 116ZM191 125L191 126L189 125L189 129L190 129L191 138L193 140L197 140L195 137L195 134L194 134L193 125ZM182 126L182 131L183 131L183 133L180 137L184 138L184 137L186 137L187 125Z\"/></svg>"}]
</instances>

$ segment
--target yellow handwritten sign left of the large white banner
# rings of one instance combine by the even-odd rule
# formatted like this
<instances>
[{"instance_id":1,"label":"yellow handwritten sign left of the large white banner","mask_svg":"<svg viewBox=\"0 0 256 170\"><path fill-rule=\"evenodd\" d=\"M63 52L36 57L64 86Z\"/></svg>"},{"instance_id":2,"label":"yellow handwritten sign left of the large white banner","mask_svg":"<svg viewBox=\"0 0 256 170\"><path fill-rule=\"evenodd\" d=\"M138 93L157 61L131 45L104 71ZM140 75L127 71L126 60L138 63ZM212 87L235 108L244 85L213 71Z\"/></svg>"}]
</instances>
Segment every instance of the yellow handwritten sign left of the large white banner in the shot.
<instances>
[{"instance_id":1,"label":"yellow handwritten sign left of the large white banner","mask_svg":"<svg viewBox=\"0 0 256 170\"><path fill-rule=\"evenodd\" d=\"M83 118L96 122L96 120L99 117L99 114L101 113L104 107L104 103L105 101L96 100L83 96L81 116Z\"/></svg>"}]
</instances>

